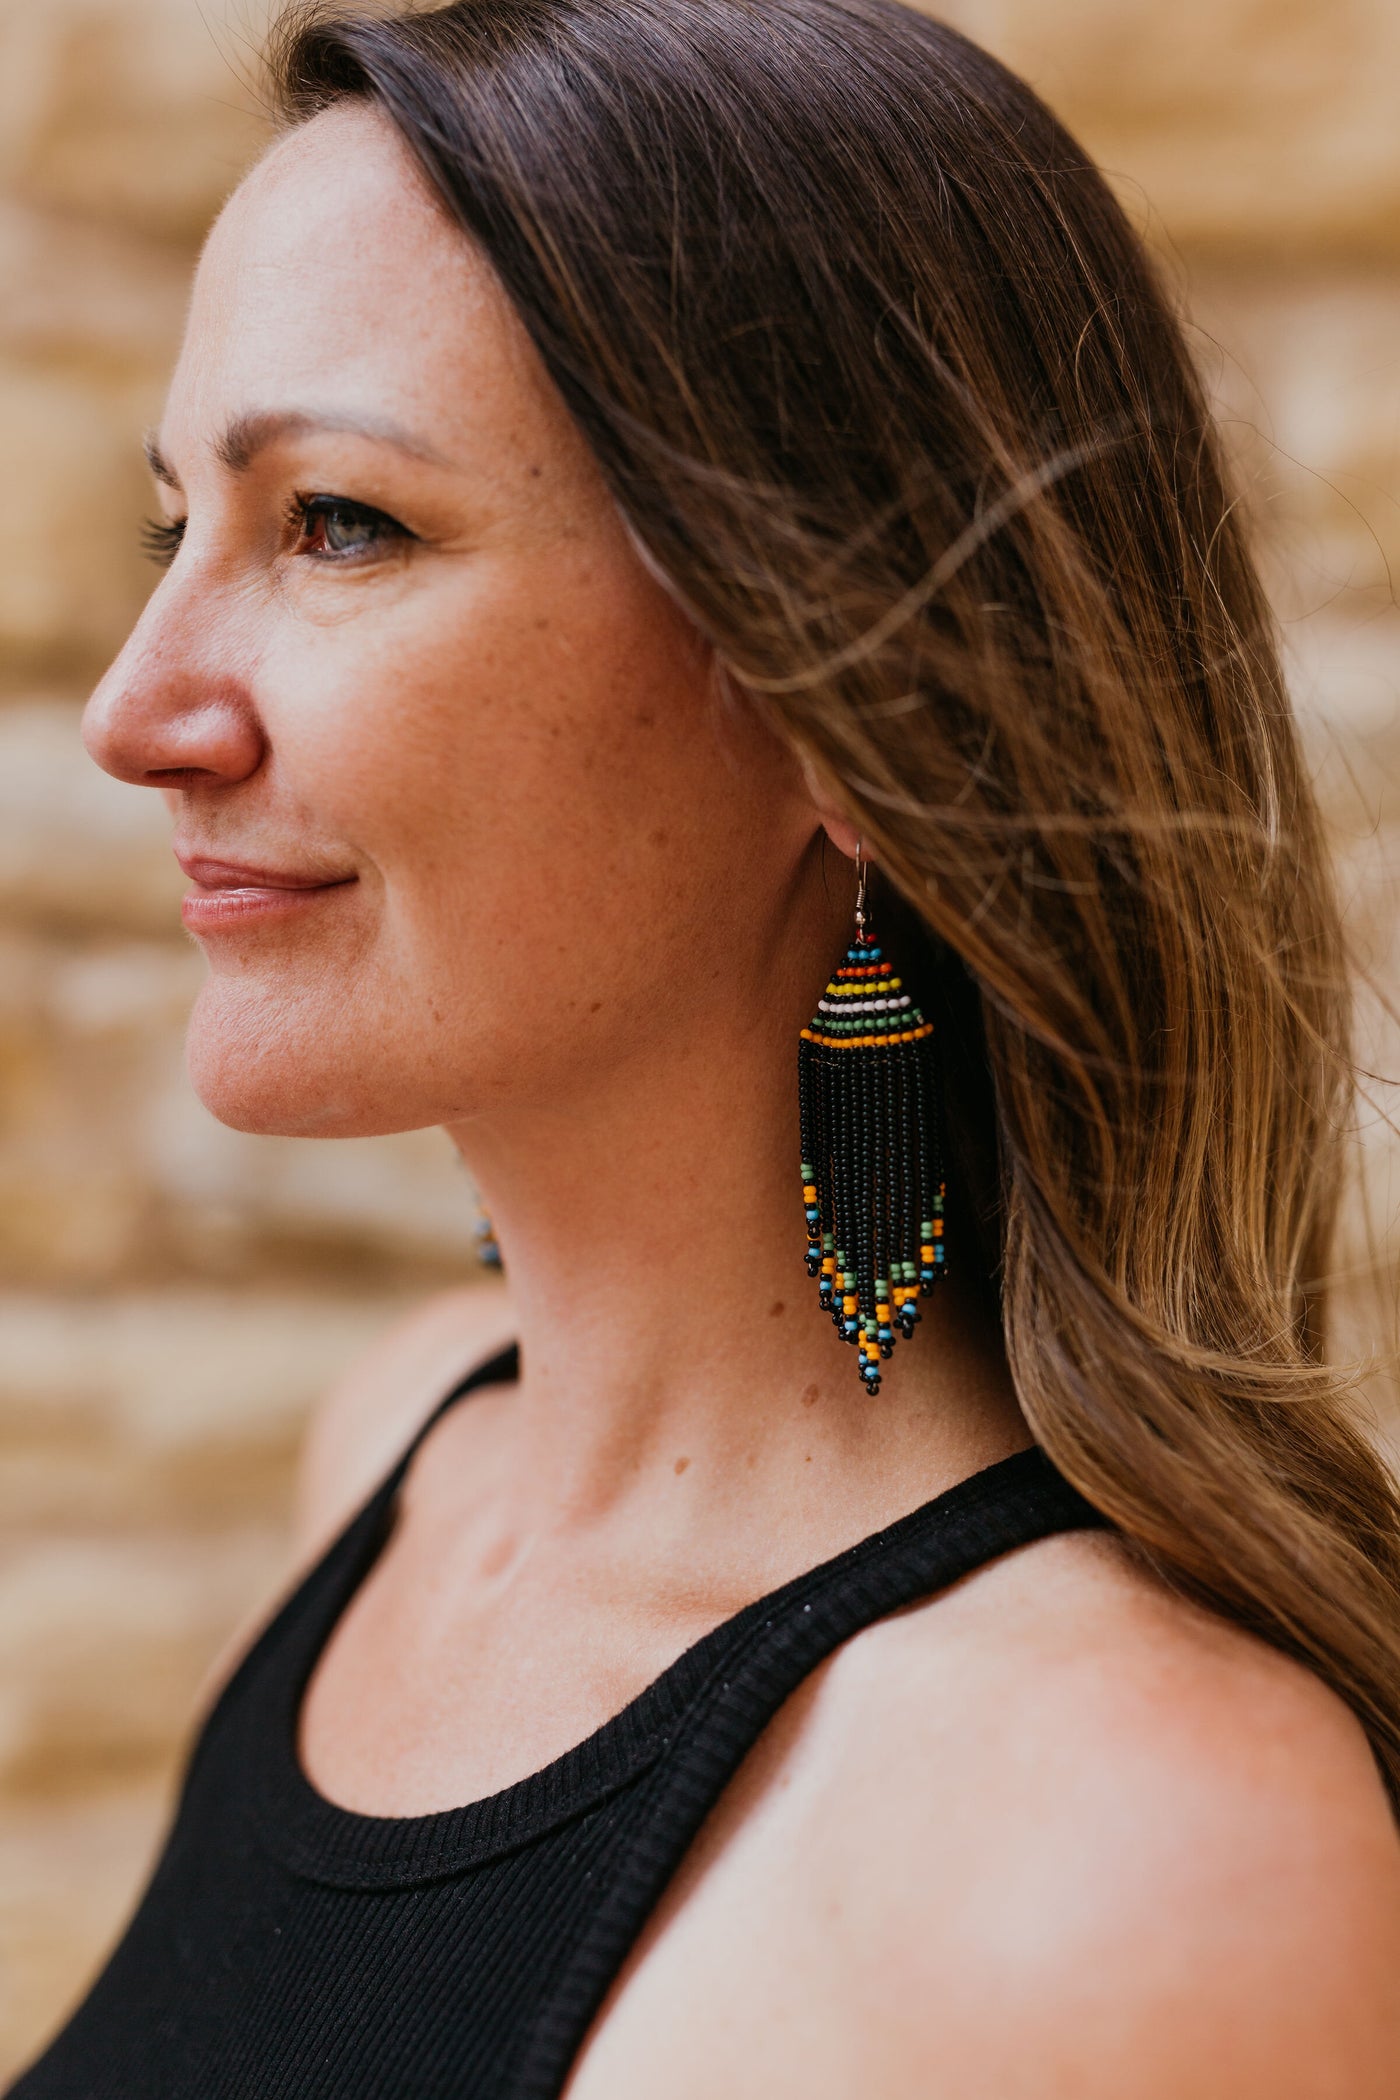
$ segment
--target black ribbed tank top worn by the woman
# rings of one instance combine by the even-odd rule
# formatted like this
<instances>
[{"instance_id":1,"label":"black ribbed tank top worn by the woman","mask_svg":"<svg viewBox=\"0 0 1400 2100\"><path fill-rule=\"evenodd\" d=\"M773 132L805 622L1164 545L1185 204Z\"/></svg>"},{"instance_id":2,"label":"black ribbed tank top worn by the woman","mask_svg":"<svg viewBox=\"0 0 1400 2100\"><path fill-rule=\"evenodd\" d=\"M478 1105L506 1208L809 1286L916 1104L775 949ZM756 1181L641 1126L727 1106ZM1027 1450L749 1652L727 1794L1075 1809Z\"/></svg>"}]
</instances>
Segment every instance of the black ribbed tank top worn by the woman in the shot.
<instances>
[{"instance_id":1,"label":"black ribbed tank top worn by the woman","mask_svg":"<svg viewBox=\"0 0 1400 2100\"><path fill-rule=\"evenodd\" d=\"M76 2016L10 2100L554 2100L707 1810L861 1628L1098 1514L1020 1451L783 1583L542 1772L426 1816L306 1781L302 1686L384 1546L432 1411L199 1730L164 1852ZM932 1900L932 1898L930 1898Z\"/></svg>"}]
</instances>

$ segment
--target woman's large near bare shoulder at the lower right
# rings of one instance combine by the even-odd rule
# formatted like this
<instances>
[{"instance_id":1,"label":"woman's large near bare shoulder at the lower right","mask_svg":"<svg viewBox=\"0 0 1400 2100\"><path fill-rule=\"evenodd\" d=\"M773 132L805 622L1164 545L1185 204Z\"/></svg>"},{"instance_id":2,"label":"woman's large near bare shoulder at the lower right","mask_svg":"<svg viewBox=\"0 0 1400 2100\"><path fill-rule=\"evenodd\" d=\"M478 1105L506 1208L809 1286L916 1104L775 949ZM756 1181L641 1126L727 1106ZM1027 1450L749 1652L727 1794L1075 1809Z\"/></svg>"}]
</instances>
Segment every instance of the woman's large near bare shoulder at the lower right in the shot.
<instances>
[{"instance_id":1,"label":"woman's large near bare shoulder at the lower right","mask_svg":"<svg viewBox=\"0 0 1400 2100\"><path fill-rule=\"evenodd\" d=\"M835 1896L858 1854L875 1896L848 1947L869 1991L888 2003L903 1972L894 2001L928 2006L957 1974L951 2092L1398 2090L1400 1838L1358 1722L1112 1537L1043 1541L871 1628L793 1756L816 1873ZM957 1915L938 1974L930 1905ZM879 2090L930 2090L932 2043L915 2016ZM1062 2068L1026 2085L1028 2060Z\"/></svg>"}]
</instances>

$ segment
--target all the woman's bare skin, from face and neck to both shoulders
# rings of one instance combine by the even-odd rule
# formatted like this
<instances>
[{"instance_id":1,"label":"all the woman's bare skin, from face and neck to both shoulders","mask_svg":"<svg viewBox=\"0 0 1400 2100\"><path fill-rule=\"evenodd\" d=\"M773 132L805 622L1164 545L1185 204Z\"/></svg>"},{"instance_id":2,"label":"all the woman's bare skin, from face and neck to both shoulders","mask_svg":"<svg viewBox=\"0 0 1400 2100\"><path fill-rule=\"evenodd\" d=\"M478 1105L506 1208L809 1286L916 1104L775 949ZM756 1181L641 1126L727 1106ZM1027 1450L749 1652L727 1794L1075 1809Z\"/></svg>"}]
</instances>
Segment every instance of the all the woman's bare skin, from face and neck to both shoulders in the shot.
<instances>
[{"instance_id":1,"label":"all the woman's bare skin, from face and neck to both shoulders","mask_svg":"<svg viewBox=\"0 0 1400 2100\"><path fill-rule=\"evenodd\" d=\"M288 410L413 443L302 422L220 460ZM854 832L724 697L372 111L231 200L160 447L185 542L88 746L197 853L336 884L201 934L195 1084L243 1130L443 1124L506 1252L508 1287L422 1308L330 1396L298 1491L309 1556L518 1336L518 1384L426 1436L300 1712L321 1791L422 1814L1028 1430L955 1279L877 1405L800 1296L793 1050ZM321 559L313 496L388 523ZM1345 1709L1112 1541L1052 1539L789 1701L569 2100L1392 2100L1396 1917Z\"/></svg>"}]
</instances>

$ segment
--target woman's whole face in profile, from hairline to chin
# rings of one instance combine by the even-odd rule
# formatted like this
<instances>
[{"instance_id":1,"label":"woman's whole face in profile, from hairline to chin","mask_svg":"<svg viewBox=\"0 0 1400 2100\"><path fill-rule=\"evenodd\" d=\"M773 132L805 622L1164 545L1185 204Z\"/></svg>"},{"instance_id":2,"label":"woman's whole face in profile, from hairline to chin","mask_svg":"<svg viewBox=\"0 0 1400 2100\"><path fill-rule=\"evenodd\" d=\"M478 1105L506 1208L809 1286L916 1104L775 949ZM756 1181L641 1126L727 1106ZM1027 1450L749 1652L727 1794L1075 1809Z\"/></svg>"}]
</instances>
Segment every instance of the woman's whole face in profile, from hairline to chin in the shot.
<instances>
[{"instance_id":1,"label":"woman's whole face in profile, from hairline to chin","mask_svg":"<svg viewBox=\"0 0 1400 2100\"><path fill-rule=\"evenodd\" d=\"M819 817L372 109L227 206L153 464L178 546L86 741L172 790L216 1115L455 1121L749 995Z\"/></svg>"}]
</instances>

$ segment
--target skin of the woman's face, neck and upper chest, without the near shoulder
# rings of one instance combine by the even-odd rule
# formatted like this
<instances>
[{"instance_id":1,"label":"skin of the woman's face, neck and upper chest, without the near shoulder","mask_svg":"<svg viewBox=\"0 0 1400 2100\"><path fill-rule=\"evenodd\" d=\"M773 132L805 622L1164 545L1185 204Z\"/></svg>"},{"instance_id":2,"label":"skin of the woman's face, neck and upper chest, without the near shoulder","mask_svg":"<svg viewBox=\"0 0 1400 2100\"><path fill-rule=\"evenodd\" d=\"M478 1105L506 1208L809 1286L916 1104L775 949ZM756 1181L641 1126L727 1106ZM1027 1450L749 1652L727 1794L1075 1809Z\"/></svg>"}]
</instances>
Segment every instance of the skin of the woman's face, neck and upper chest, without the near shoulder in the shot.
<instances>
[{"instance_id":1,"label":"skin of the woman's face, neck and upper chest, without the near shoulder","mask_svg":"<svg viewBox=\"0 0 1400 2100\"><path fill-rule=\"evenodd\" d=\"M812 1296L787 1317L793 1056L850 932L854 834L716 678L372 111L317 118L231 200L157 441L183 542L88 748L166 792L185 848L336 884L201 937L193 1079L248 1130L445 1124L514 1296L518 1388L428 1438L306 1699L327 1791L413 1812L546 1762L718 1619L1026 1432L953 1294L940 1346L909 1352L915 1405L823 1409L812 1443L796 1399L842 1352ZM367 512L353 559L290 525L311 498ZM426 1407L462 1363L441 1338L424 1361ZM413 1392L393 1354L363 1378L357 1428L313 1438L327 1504L357 1434L393 1455L376 1424ZM304 1502L317 1533L330 1508ZM422 1583L453 1598L443 1655L416 1648ZM554 1686L539 1707L523 1657Z\"/></svg>"}]
</instances>

